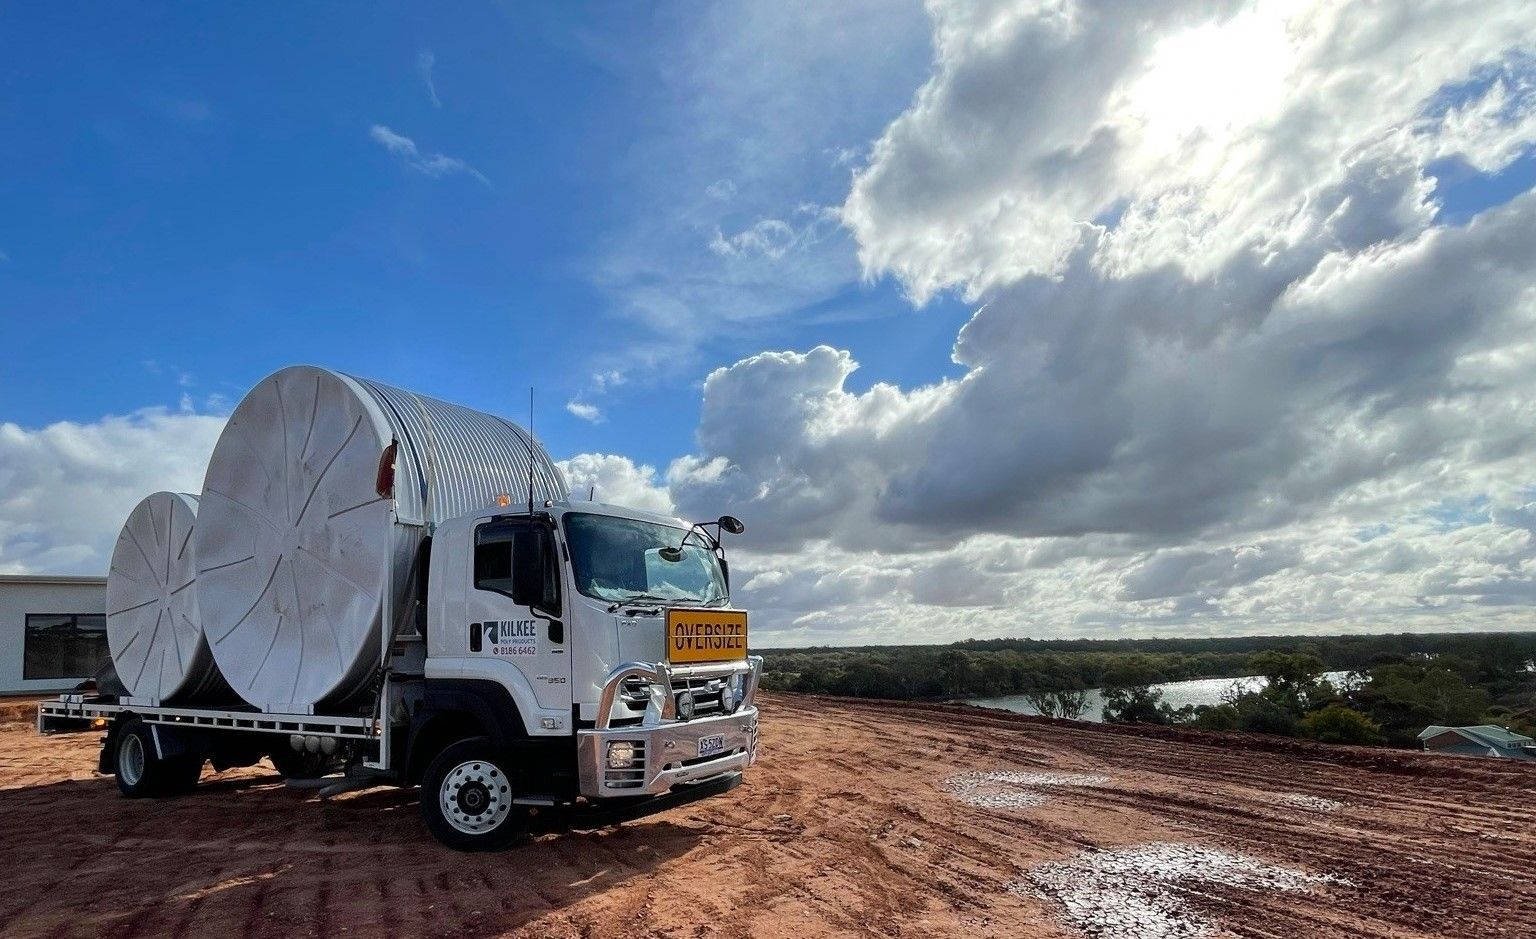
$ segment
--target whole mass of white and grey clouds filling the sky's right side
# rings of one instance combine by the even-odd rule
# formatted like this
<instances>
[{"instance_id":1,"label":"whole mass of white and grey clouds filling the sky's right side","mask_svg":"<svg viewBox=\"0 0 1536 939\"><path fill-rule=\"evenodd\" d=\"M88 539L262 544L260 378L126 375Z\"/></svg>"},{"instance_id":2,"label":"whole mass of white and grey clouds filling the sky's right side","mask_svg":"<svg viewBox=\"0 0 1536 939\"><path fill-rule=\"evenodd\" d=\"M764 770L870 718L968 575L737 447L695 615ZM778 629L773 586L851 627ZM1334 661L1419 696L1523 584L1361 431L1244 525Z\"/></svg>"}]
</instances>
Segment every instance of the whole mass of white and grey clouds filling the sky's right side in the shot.
<instances>
[{"instance_id":1,"label":"whole mass of white and grey clouds filling the sky's right side","mask_svg":"<svg viewBox=\"0 0 1536 939\"><path fill-rule=\"evenodd\" d=\"M975 301L963 373L754 355L668 469L771 635L1527 622L1536 194L1453 226L1433 174L1536 143L1536 8L929 8L842 220Z\"/></svg>"}]
</instances>

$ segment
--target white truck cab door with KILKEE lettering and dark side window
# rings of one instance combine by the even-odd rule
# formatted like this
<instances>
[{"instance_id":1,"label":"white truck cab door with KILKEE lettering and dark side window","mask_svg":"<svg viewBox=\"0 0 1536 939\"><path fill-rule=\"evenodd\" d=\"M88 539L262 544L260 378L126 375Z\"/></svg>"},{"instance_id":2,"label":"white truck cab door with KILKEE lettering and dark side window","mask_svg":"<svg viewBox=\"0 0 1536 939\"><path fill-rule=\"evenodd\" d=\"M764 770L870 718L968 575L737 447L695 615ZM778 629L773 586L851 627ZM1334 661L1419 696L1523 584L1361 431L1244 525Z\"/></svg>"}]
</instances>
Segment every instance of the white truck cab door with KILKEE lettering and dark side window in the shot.
<instances>
[{"instance_id":1,"label":"white truck cab door with KILKEE lettering and dark side window","mask_svg":"<svg viewBox=\"0 0 1536 939\"><path fill-rule=\"evenodd\" d=\"M553 527L541 519L492 518L475 524L470 539L473 573L464 598L470 658L488 656L516 667L541 708L568 715L570 636ZM521 590L528 593L528 578L538 573L541 589L518 596L519 578Z\"/></svg>"}]
</instances>

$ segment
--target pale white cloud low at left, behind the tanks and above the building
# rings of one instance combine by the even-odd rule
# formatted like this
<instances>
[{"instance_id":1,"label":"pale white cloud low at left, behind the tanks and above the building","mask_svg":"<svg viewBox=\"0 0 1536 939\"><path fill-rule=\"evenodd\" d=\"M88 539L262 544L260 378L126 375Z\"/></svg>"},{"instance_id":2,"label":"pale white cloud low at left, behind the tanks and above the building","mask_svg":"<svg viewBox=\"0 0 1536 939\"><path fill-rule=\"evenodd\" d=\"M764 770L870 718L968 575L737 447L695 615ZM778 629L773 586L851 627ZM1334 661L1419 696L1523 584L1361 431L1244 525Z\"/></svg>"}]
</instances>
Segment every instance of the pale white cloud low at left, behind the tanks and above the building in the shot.
<instances>
[{"instance_id":1,"label":"pale white cloud low at left, behind the tanks and above the building","mask_svg":"<svg viewBox=\"0 0 1536 939\"><path fill-rule=\"evenodd\" d=\"M0 573L104 575L127 513L200 492L224 418L146 409L95 423L0 423Z\"/></svg>"}]
</instances>

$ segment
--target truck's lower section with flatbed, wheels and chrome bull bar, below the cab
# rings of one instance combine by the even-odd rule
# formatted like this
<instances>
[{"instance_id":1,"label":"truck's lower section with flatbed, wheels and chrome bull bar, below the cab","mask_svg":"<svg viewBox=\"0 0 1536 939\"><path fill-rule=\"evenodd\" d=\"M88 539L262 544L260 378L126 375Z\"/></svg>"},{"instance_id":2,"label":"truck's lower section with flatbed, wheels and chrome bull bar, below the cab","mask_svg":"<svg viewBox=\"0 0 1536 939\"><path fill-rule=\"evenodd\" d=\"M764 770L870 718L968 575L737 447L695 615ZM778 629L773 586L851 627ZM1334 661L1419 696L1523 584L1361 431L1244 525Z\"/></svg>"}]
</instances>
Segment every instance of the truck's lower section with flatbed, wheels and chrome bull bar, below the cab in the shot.
<instances>
[{"instance_id":1,"label":"truck's lower section with flatbed, wheels and chrome bull bar, below the cab","mask_svg":"<svg viewBox=\"0 0 1536 939\"><path fill-rule=\"evenodd\" d=\"M129 798L189 791L204 761L223 770L263 756L290 785L316 788L323 798L419 782L422 816L439 841L496 850L530 831L598 828L736 788L757 756L760 675L759 656L710 665L627 662L608 675L598 719L565 738L498 732L496 724L521 719L501 713L495 701L479 719L459 705L435 712L427 701L444 682L432 679L386 681L373 713L393 715L387 724L367 715L170 707L71 693L38 704L37 730L104 730L97 768L117 776ZM730 712L693 719L677 713L679 688L733 679L742 695ZM462 701L462 688L447 687L449 698ZM392 704L381 708L384 701ZM407 701L413 707L401 707ZM614 713L631 716L614 721ZM424 733L441 728L439 718L458 730ZM631 762L616 765L614 753ZM343 759L344 773L335 776Z\"/></svg>"}]
</instances>

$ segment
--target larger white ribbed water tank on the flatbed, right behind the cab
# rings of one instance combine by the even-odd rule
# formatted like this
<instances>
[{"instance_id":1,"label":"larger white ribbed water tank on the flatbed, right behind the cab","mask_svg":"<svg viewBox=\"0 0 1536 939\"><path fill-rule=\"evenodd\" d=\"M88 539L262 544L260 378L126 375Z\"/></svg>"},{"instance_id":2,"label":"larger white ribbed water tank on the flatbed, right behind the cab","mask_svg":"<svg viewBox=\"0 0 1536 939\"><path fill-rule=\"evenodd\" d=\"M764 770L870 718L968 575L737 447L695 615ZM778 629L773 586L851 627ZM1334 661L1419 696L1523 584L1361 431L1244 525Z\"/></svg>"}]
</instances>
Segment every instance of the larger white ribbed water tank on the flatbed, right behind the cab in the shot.
<instances>
[{"instance_id":1,"label":"larger white ribbed water tank on the flatbed, right behind the cab","mask_svg":"<svg viewBox=\"0 0 1536 939\"><path fill-rule=\"evenodd\" d=\"M392 449L393 447L393 449ZM214 447L198 602L230 687L267 712L346 707L372 685L427 526L565 498L544 447L495 415L295 366L250 390ZM393 476L390 479L390 475Z\"/></svg>"}]
</instances>

